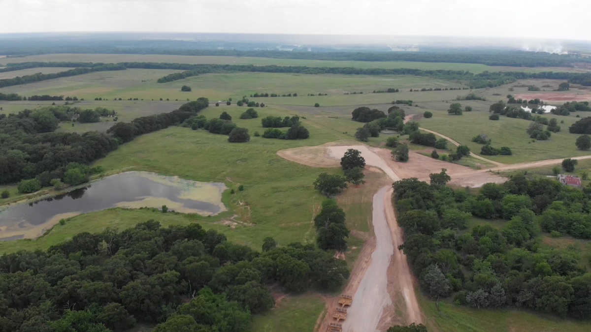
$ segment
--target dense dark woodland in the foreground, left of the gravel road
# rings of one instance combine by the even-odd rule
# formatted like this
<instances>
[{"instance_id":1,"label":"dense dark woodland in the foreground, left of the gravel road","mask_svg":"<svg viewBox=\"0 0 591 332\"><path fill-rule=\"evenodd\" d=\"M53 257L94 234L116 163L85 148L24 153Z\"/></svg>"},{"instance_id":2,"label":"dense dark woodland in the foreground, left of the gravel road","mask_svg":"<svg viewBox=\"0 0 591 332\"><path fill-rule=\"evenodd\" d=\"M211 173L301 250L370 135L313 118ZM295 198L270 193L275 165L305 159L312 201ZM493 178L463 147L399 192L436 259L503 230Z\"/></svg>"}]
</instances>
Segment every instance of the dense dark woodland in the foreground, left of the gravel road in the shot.
<instances>
[{"instance_id":1,"label":"dense dark woodland in the foreground, left of the gravel road","mask_svg":"<svg viewBox=\"0 0 591 332\"><path fill-rule=\"evenodd\" d=\"M274 306L268 285L287 292L334 291L345 261L313 245L263 252L199 224L150 220L117 232L79 233L47 251L0 257L0 331L251 330L251 315Z\"/></svg>"}]
</instances>

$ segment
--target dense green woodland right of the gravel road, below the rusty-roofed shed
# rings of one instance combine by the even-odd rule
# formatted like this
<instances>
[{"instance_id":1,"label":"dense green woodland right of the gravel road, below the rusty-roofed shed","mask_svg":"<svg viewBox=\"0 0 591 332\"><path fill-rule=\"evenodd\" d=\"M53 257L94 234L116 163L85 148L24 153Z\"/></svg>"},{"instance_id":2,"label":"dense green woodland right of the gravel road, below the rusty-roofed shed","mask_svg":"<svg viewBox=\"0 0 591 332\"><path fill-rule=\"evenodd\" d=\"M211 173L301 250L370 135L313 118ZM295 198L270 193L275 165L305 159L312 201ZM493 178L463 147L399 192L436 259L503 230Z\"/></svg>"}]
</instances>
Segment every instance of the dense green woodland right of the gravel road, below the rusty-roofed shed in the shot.
<instances>
[{"instance_id":1,"label":"dense green woodland right of the gravel road, below the rusty-roofed shed","mask_svg":"<svg viewBox=\"0 0 591 332\"><path fill-rule=\"evenodd\" d=\"M591 237L589 188L514 175L473 195L442 185L449 181L439 181L442 174L431 174L431 185L416 178L393 184L406 237L401 249L431 297L454 294L456 303L470 307L589 317L591 274L580 253L542 248L539 238L540 227ZM472 216L508 222L501 229L477 224L465 230Z\"/></svg>"}]
</instances>

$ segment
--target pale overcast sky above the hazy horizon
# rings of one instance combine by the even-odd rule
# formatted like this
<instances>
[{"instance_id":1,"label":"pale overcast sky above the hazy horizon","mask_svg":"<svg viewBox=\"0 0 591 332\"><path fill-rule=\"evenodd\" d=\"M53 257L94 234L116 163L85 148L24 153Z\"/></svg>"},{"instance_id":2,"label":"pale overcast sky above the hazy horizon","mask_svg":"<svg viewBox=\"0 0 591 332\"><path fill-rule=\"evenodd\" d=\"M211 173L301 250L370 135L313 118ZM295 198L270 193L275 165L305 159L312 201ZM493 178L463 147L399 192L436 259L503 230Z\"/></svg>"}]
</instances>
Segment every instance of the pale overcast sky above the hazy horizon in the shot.
<instances>
[{"instance_id":1,"label":"pale overcast sky above the hazy horizon","mask_svg":"<svg viewBox=\"0 0 591 332\"><path fill-rule=\"evenodd\" d=\"M590 12L590 0L0 0L0 32L252 32L591 40Z\"/></svg>"}]
</instances>

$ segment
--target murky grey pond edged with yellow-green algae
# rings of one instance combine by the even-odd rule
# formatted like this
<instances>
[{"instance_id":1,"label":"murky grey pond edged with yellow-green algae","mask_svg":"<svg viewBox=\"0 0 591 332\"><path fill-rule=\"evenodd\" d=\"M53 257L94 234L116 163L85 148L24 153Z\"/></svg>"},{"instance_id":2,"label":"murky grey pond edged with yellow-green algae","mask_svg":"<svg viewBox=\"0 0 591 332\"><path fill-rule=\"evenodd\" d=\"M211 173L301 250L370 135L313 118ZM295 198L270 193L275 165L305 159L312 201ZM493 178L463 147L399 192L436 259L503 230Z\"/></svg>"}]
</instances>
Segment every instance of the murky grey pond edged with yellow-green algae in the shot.
<instances>
[{"instance_id":1,"label":"murky grey pond edged with yellow-green algae","mask_svg":"<svg viewBox=\"0 0 591 332\"><path fill-rule=\"evenodd\" d=\"M203 183L148 172L125 172L85 188L0 211L0 240L33 239L60 219L112 207L162 207L204 216L225 211L223 183Z\"/></svg>"}]
</instances>

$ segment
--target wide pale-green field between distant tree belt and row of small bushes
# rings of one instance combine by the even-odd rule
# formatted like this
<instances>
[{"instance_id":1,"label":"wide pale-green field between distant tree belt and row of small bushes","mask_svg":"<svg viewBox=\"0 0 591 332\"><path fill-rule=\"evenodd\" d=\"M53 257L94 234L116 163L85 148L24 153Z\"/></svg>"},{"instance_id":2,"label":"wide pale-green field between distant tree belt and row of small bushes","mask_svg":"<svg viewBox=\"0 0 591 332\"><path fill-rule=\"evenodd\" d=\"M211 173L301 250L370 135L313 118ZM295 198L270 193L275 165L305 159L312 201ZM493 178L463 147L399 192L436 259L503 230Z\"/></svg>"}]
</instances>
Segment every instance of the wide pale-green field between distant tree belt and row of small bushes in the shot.
<instances>
[{"instance_id":1,"label":"wide pale-green field between distant tree belt and row of small bushes","mask_svg":"<svg viewBox=\"0 0 591 332\"><path fill-rule=\"evenodd\" d=\"M408 92L409 89L423 87L461 87L459 83L417 76L352 76L336 74L284 74L284 73L228 73L203 74L168 83L156 81L178 70L128 69L120 71L100 71L80 76L61 77L0 89L3 93L19 95L76 96L79 99L129 99L138 98L151 101L194 100L206 96L212 102L235 101L242 96L255 92L288 94L297 93L298 97L262 97L252 98L257 102L275 105L321 106L363 105L389 103L394 99L412 99L421 101L452 99L457 91L443 92ZM190 86L191 92L181 92L183 85ZM401 93L370 93L389 87L402 90ZM363 92L363 95L345 95L345 93ZM328 96L307 96L309 93L327 93ZM103 100L104 101L104 100ZM2 102L2 104L9 104Z\"/></svg>"}]
</instances>

